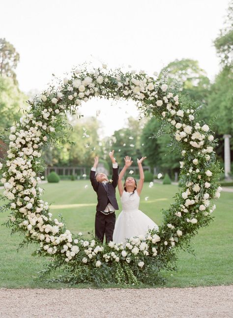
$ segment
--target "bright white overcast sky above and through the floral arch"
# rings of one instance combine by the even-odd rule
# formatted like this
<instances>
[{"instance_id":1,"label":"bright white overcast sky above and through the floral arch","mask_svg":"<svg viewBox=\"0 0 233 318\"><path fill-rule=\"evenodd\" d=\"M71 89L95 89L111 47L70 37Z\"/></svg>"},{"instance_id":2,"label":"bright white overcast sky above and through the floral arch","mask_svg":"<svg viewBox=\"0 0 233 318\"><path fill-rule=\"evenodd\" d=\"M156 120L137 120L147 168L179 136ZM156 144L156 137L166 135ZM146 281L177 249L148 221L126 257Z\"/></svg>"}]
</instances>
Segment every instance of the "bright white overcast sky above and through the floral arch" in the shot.
<instances>
[{"instance_id":1,"label":"bright white overcast sky above and through the floral arch","mask_svg":"<svg viewBox=\"0 0 233 318\"><path fill-rule=\"evenodd\" d=\"M159 72L169 62L192 58L211 81L219 72L213 40L223 27L229 0L0 0L0 37L20 54L16 69L26 93L48 87L74 66L144 69ZM98 116L100 134L111 135L137 118L133 103L93 100L84 116ZM114 117L113 117L114 113Z\"/></svg>"}]
</instances>

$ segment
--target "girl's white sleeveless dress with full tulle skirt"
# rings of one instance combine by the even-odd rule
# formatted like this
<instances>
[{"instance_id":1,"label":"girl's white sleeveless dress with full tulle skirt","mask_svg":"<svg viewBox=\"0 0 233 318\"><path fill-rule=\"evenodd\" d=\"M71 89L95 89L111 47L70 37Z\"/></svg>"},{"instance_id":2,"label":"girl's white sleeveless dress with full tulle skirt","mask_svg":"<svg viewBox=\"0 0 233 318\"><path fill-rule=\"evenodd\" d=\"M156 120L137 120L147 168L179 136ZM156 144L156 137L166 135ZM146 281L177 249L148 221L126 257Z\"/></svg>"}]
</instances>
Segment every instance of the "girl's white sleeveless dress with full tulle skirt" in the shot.
<instances>
[{"instance_id":1,"label":"girl's white sleeveless dress with full tulle skirt","mask_svg":"<svg viewBox=\"0 0 233 318\"><path fill-rule=\"evenodd\" d=\"M124 190L120 201L122 211L118 215L115 224L114 242L125 242L126 238L145 235L148 229L158 229L157 224L139 210L140 197L137 190L134 193Z\"/></svg>"}]
</instances>

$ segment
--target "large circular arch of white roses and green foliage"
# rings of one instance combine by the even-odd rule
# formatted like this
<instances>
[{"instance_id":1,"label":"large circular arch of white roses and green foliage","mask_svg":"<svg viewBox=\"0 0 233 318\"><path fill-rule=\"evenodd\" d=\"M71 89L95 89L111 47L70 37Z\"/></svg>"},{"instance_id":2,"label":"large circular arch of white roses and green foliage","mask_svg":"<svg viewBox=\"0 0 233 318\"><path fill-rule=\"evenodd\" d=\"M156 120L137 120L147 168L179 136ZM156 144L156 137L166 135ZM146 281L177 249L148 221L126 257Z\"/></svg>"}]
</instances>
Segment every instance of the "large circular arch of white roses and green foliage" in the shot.
<instances>
[{"instance_id":1,"label":"large circular arch of white roses and green foliage","mask_svg":"<svg viewBox=\"0 0 233 318\"><path fill-rule=\"evenodd\" d=\"M40 199L39 187L44 170L41 150L57 140L65 125L64 114L75 111L94 96L131 99L147 116L155 116L170 126L178 145L182 190L175 202L163 211L159 229L146 236L131 237L125 244L102 244L72 234L64 223L53 219L48 202ZM204 122L198 120L195 103L179 99L175 90L144 71L124 72L81 66L58 87L51 86L29 102L20 121L10 128L9 149L2 169L3 195L10 209L7 225L25 235L23 244L39 243L34 255L50 256L43 273L63 267L70 282L94 281L155 283L161 269L173 268L175 248L189 248L190 238L209 224L215 209L211 199L219 198L220 172L213 151L216 141Z\"/></svg>"}]
</instances>

